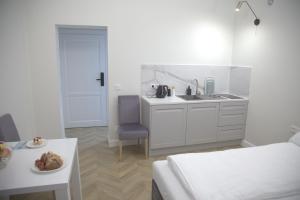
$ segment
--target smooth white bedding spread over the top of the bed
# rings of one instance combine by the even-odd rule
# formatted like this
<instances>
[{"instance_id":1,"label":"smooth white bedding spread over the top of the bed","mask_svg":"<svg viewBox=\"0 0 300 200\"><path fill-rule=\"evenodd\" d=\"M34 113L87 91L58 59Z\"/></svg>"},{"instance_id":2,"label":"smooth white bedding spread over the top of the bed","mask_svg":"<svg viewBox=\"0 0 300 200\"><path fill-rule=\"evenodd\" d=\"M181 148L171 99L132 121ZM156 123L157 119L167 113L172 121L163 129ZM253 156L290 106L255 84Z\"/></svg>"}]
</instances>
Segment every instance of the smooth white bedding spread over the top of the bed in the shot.
<instances>
[{"instance_id":1,"label":"smooth white bedding spread over the top of the bed","mask_svg":"<svg viewBox=\"0 0 300 200\"><path fill-rule=\"evenodd\" d=\"M300 195L300 148L292 143L167 159L191 199L266 200Z\"/></svg>"}]
</instances>

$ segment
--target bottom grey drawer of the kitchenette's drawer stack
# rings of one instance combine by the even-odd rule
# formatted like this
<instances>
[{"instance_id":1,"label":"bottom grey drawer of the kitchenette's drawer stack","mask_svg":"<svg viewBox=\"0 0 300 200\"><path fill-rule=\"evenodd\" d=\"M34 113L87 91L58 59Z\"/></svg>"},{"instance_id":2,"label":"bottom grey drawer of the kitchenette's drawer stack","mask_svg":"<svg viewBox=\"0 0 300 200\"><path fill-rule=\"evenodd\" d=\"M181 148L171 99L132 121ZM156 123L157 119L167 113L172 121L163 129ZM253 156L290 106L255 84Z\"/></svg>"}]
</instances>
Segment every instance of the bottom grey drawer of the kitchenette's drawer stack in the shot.
<instances>
[{"instance_id":1,"label":"bottom grey drawer of the kitchenette's drawer stack","mask_svg":"<svg viewBox=\"0 0 300 200\"><path fill-rule=\"evenodd\" d=\"M227 141L227 140L238 140L245 137L245 126L223 126L219 127L217 140Z\"/></svg>"}]
</instances>

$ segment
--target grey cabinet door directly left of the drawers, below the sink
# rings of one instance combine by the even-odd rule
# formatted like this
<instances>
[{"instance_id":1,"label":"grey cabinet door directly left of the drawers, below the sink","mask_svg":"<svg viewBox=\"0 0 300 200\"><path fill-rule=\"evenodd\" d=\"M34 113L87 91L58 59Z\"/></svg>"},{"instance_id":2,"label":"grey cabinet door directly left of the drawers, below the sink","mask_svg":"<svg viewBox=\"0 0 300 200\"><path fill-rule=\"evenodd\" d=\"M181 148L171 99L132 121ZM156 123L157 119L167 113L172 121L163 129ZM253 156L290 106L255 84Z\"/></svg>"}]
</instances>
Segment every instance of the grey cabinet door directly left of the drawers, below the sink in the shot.
<instances>
[{"instance_id":1,"label":"grey cabinet door directly left of the drawers, below the sink","mask_svg":"<svg viewBox=\"0 0 300 200\"><path fill-rule=\"evenodd\" d=\"M187 144L217 141L219 103L199 103L188 106Z\"/></svg>"}]
</instances>

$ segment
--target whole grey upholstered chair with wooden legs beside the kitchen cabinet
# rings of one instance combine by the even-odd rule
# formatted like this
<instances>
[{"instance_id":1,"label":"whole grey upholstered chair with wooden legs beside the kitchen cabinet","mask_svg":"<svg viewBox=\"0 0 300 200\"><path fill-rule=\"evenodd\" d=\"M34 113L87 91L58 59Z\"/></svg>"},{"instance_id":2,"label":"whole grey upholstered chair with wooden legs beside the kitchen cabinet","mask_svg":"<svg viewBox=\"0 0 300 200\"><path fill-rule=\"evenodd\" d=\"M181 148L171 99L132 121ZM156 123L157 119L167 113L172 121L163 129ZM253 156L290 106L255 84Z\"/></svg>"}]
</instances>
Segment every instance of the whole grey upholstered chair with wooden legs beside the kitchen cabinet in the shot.
<instances>
[{"instance_id":1,"label":"whole grey upholstered chair with wooden legs beside the kitchen cabinet","mask_svg":"<svg viewBox=\"0 0 300 200\"><path fill-rule=\"evenodd\" d=\"M140 99L137 95L118 97L119 111L119 159L122 160L122 140L145 140L145 156L148 158L148 129L140 123Z\"/></svg>"}]
</instances>

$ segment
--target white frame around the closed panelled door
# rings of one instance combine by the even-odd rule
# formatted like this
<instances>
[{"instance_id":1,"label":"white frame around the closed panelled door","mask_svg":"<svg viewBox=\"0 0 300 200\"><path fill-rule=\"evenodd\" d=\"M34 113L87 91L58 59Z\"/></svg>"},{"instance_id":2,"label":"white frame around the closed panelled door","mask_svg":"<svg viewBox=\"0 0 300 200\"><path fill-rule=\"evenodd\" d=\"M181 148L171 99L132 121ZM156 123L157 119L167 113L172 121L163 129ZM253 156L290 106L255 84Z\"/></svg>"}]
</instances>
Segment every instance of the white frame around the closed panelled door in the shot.
<instances>
[{"instance_id":1,"label":"white frame around the closed panelled door","mask_svg":"<svg viewBox=\"0 0 300 200\"><path fill-rule=\"evenodd\" d=\"M105 48L106 48L106 55L105 55L105 66L104 66L104 73L106 74L106 76L104 76L104 81L106 86L104 87L104 95L105 95L105 100L106 100L106 126L109 125L109 81L108 81L108 28L106 26L90 26L90 25L59 25L56 24L55 25L55 32L56 32L56 56L57 56L57 62L58 62L58 81L59 81L59 101L60 101L60 117L61 117L61 124L62 124L62 132L65 133L65 120L64 120L64 94L63 94L63 80L62 80L62 63L61 63L61 59L60 59L60 47L59 47L59 34L61 29L79 29L79 30L101 30L101 31L105 31L105 36L106 36L106 40L105 40ZM65 135L65 134L64 134Z\"/></svg>"}]
</instances>

